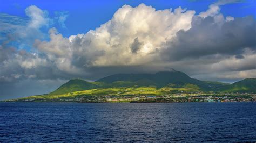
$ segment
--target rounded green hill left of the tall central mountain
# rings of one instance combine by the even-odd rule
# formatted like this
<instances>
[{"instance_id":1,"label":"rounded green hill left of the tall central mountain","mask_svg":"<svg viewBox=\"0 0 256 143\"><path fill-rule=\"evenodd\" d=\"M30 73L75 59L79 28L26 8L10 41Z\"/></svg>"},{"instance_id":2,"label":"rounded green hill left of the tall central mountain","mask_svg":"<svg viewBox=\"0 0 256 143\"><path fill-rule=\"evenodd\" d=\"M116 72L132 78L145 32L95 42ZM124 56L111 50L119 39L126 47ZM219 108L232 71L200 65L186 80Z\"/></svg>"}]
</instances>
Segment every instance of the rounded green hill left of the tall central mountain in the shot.
<instances>
[{"instance_id":1,"label":"rounded green hill left of the tall central mountain","mask_svg":"<svg viewBox=\"0 0 256 143\"><path fill-rule=\"evenodd\" d=\"M73 91L81 91L98 88L98 85L80 79L73 79L61 85L49 95L62 95Z\"/></svg>"}]
</instances>

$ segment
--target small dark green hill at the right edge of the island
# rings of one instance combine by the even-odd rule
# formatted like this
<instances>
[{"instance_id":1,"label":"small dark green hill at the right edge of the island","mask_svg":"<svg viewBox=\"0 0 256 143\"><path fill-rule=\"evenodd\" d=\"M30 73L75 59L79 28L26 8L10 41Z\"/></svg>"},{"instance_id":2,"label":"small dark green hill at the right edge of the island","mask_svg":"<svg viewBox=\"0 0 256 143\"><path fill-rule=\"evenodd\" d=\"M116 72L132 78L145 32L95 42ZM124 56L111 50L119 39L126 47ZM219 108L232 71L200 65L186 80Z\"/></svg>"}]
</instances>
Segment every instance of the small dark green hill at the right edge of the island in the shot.
<instances>
[{"instance_id":1,"label":"small dark green hill at the right edge of the island","mask_svg":"<svg viewBox=\"0 0 256 143\"><path fill-rule=\"evenodd\" d=\"M221 91L228 92L256 92L256 78L247 78L224 86Z\"/></svg>"}]
</instances>

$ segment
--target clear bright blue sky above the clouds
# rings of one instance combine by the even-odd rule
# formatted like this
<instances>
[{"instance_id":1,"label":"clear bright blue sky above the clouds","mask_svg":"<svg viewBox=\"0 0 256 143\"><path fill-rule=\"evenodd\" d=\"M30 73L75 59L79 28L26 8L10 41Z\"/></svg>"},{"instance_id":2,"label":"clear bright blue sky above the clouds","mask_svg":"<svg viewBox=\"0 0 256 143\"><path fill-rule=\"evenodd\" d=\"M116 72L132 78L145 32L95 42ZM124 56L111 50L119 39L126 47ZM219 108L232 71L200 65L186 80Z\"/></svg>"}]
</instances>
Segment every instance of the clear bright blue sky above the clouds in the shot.
<instances>
[{"instance_id":1,"label":"clear bright blue sky above the clouds","mask_svg":"<svg viewBox=\"0 0 256 143\"><path fill-rule=\"evenodd\" d=\"M138 6L140 3L151 5L156 10L175 9L178 6L187 8L187 10L195 10L197 13L208 9L208 5L214 3L214 0L180 0L180 1L135 1L135 0L111 0L111 1L4 1L1 0L0 13L8 13L26 18L24 9L30 5L36 5L42 10L47 10L49 16L55 15L58 11L67 11L69 16L65 20L66 28L54 25L60 33L65 37L78 33L86 33L89 30L95 30L101 24L110 20L120 7L125 4ZM231 3L221 6L221 13L224 16L245 17L252 15L256 18L256 2L254 0L246 0L238 3Z\"/></svg>"}]
</instances>

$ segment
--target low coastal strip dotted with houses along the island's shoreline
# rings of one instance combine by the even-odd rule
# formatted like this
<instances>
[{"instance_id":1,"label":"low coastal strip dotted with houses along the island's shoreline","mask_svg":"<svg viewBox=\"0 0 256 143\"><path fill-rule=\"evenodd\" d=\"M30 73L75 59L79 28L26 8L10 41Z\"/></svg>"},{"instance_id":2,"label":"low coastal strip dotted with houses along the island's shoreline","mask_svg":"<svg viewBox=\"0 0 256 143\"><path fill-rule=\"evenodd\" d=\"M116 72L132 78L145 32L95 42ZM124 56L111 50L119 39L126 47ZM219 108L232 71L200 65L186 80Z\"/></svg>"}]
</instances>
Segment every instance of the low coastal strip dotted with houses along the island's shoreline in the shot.
<instances>
[{"instance_id":1,"label":"low coastal strip dotted with houses along the island's shoreline","mask_svg":"<svg viewBox=\"0 0 256 143\"><path fill-rule=\"evenodd\" d=\"M256 102L253 93L214 93L183 92L169 95L100 95L77 96L72 98L34 99L26 98L19 102ZM11 100L9 101L11 102Z\"/></svg>"}]
</instances>

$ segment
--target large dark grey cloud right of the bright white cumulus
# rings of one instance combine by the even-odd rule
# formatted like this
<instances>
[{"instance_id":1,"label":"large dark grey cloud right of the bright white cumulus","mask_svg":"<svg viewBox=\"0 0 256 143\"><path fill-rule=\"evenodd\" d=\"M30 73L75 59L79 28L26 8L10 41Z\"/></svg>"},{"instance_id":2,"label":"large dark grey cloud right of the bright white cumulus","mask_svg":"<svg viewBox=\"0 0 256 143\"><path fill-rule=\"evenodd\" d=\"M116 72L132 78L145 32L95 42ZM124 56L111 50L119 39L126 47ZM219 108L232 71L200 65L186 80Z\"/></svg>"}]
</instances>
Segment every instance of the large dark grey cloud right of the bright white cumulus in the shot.
<instances>
[{"instance_id":1,"label":"large dark grey cloud right of the bright white cumulus","mask_svg":"<svg viewBox=\"0 0 256 143\"><path fill-rule=\"evenodd\" d=\"M190 30L177 32L166 43L163 57L170 61L200 58L205 55L238 55L255 51L256 24L253 17L235 18L219 25L213 17L194 17Z\"/></svg>"}]
</instances>

